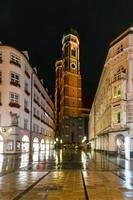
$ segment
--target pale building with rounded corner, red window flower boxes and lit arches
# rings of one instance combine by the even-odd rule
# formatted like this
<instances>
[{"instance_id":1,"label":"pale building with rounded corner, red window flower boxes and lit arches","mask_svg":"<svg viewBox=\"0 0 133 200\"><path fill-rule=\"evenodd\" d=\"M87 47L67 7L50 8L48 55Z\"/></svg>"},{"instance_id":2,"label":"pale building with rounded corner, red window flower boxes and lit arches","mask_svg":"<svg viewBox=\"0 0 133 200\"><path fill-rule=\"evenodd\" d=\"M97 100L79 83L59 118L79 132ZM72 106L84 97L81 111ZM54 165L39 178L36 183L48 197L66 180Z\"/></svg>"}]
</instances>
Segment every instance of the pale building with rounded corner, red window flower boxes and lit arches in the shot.
<instances>
[{"instance_id":1,"label":"pale building with rounded corner, red window flower boxes and lit arches","mask_svg":"<svg viewBox=\"0 0 133 200\"><path fill-rule=\"evenodd\" d=\"M0 153L52 149L54 129L54 104L28 54L0 45Z\"/></svg>"}]
</instances>

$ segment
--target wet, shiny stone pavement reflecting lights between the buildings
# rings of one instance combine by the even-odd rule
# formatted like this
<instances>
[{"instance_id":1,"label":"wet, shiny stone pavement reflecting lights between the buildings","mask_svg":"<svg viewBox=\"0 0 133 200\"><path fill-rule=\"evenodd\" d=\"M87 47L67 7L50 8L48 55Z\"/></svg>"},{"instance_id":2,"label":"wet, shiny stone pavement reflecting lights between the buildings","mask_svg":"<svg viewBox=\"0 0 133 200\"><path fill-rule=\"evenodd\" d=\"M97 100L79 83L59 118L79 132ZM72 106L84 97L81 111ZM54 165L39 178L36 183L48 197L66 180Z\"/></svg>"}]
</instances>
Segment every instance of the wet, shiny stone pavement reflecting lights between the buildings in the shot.
<instances>
[{"instance_id":1,"label":"wet, shiny stone pavement reflecting lights between the buildings","mask_svg":"<svg viewBox=\"0 0 133 200\"><path fill-rule=\"evenodd\" d=\"M74 198L74 191L76 189L71 187L71 181L75 182L76 180L79 185L82 185L81 170L85 179L89 200L133 200L133 160L127 161L123 158L109 156L104 153L84 152L74 149L35 152L32 163L29 163L28 154L0 155L0 199L13 199L31 187L31 185L37 183L48 171L51 171L51 175L43 178L38 183L39 186L37 184L27 193L29 197L26 194L22 199L34 199L33 195L35 194L38 194L38 197L35 197L35 199L41 199L39 194L44 197L46 190L42 192L42 187L45 181L47 184L54 183L55 176L58 174L56 183L62 186L64 184L64 188L68 189L58 191L57 199L63 200L65 196L67 199L67 191L71 190L69 199L77 200ZM73 180L70 181L68 177L73 177ZM83 197L83 186L78 188L78 190L81 191L81 199L85 199ZM52 200L53 198L56 200L57 193L50 191L48 193L49 196L45 199Z\"/></svg>"}]
</instances>

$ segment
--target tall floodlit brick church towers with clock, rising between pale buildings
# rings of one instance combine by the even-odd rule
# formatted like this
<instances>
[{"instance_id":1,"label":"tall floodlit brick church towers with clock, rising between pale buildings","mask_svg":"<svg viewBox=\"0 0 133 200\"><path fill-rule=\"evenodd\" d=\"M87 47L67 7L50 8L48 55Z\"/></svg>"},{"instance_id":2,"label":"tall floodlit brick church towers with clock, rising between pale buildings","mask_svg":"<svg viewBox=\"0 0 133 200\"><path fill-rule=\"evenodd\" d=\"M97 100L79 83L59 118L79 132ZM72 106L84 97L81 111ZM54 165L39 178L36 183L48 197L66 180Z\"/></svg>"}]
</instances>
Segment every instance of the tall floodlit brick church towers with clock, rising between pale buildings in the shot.
<instances>
[{"instance_id":1,"label":"tall floodlit brick church towers with clock, rising between pale buildings","mask_svg":"<svg viewBox=\"0 0 133 200\"><path fill-rule=\"evenodd\" d=\"M83 139L82 88L79 36L73 29L62 38L62 59L56 62L55 114L57 137L63 144L79 144Z\"/></svg>"}]
</instances>

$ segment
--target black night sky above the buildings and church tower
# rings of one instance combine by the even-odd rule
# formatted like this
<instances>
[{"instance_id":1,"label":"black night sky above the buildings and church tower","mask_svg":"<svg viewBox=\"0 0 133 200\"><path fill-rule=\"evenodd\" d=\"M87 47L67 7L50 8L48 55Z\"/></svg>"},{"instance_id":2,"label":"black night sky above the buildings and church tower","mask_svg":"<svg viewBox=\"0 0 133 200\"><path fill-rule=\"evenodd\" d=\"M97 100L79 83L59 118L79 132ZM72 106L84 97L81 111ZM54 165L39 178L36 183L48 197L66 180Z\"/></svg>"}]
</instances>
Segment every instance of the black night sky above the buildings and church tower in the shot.
<instances>
[{"instance_id":1,"label":"black night sky above the buildings and church tower","mask_svg":"<svg viewBox=\"0 0 133 200\"><path fill-rule=\"evenodd\" d=\"M80 36L83 94L92 98L109 43L133 24L133 0L0 0L0 40L28 50L45 87L54 94L54 64L64 30Z\"/></svg>"}]
</instances>

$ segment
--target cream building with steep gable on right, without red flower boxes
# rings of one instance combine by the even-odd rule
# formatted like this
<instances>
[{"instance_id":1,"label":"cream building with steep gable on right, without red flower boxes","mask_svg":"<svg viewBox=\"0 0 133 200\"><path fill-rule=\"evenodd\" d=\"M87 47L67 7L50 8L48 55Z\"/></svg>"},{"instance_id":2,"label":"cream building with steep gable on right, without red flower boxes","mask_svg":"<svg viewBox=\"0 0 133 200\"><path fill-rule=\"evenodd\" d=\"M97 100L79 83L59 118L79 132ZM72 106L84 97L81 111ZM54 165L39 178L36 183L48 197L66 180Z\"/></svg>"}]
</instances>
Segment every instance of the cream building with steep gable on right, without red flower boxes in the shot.
<instances>
[{"instance_id":1,"label":"cream building with steep gable on right, without red flower boxes","mask_svg":"<svg viewBox=\"0 0 133 200\"><path fill-rule=\"evenodd\" d=\"M133 156L133 27L111 44L89 118L92 149Z\"/></svg>"}]
</instances>

